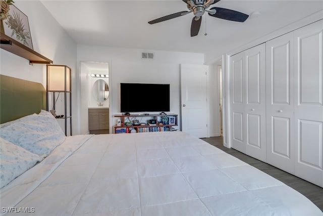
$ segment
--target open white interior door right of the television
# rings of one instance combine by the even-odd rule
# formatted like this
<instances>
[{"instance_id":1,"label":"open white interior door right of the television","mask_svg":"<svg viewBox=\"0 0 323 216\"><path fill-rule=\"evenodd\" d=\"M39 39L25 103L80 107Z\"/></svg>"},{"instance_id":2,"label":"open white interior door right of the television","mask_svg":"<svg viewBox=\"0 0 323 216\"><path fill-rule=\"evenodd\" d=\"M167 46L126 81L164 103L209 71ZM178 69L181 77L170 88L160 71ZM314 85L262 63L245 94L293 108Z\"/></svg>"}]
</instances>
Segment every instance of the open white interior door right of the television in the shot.
<instances>
[{"instance_id":1,"label":"open white interior door right of the television","mask_svg":"<svg viewBox=\"0 0 323 216\"><path fill-rule=\"evenodd\" d=\"M181 64L182 131L207 137L206 65Z\"/></svg>"}]
</instances>

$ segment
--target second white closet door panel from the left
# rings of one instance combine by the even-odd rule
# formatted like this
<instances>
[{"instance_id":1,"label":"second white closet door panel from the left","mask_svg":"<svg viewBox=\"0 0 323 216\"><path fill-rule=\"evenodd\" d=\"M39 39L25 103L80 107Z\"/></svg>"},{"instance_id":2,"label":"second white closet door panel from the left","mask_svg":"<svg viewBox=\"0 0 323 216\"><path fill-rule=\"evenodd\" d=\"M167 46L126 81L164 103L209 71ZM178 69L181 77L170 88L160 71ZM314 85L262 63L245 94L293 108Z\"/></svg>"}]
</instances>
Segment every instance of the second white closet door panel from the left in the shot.
<instances>
[{"instance_id":1,"label":"second white closet door panel from the left","mask_svg":"<svg viewBox=\"0 0 323 216\"><path fill-rule=\"evenodd\" d=\"M265 45L245 51L246 154L266 161Z\"/></svg>"}]
</instances>

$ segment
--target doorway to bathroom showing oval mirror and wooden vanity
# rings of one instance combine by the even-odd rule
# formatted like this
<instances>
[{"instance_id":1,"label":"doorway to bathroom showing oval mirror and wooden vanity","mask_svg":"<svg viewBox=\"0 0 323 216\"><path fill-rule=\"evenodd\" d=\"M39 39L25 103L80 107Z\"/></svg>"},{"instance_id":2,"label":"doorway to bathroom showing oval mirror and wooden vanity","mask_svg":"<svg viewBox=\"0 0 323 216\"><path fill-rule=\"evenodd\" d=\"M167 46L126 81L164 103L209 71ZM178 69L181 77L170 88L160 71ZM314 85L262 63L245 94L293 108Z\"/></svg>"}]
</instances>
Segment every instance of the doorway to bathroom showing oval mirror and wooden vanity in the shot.
<instances>
[{"instance_id":1,"label":"doorway to bathroom showing oval mirror and wooden vanity","mask_svg":"<svg viewBox=\"0 0 323 216\"><path fill-rule=\"evenodd\" d=\"M110 133L109 63L80 62L80 134Z\"/></svg>"}]
</instances>

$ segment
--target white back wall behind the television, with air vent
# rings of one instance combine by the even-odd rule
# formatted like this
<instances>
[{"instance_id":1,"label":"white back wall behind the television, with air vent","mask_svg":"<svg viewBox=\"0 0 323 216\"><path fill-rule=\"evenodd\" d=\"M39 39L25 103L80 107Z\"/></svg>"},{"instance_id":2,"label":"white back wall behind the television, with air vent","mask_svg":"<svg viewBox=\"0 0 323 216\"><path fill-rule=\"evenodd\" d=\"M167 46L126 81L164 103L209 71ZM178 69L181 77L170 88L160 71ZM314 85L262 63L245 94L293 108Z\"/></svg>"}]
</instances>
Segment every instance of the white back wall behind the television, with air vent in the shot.
<instances>
[{"instance_id":1,"label":"white back wall behind the television, with air vent","mask_svg":"<svg viewBox=\"0 0 323 216\"><path fill-rule=\"evenodd\" d=\"M149 50L148 52L154 53L154 59L141 59L141 52L147 52L147 50L77 46L78 62L94 61L109 63L111 116L120 114L120 82L170 83L171 112L179 115L180 122L180 64L203 64L204 55ZM82 104L81 96L79 98L80 104ZM158 96L152 96L151 102L157 103ZM81 115L79 117L81 124L87 122ZM110 119L110 130L112 131L112 125L117 123L117 118ZM81 127L81 125L79 126Z\"/></svg>"}]
</instances>

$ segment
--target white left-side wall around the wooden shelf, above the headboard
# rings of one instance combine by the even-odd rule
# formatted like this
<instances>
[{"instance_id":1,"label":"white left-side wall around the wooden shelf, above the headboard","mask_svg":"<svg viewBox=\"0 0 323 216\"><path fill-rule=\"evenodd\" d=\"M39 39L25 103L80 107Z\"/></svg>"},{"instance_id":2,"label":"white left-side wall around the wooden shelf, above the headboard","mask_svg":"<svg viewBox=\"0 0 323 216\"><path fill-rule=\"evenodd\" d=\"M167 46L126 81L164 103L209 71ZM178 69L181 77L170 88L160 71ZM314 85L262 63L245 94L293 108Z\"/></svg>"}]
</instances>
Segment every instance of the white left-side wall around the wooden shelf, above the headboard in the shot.
<instances>
[{"instance_id":1,"label":"white left-side wall around the wooden shelf, above the headboard","mask_svg":"<svg viewBox=\"0 0 323 216\"><path fill-rule=\"evenodd\" d=\"M76 44L39 1L15 1L14 5L27 15L33 50L51 59L53 64L72 69L73 113L76 113ZM40 82L46 88L46 65L29 65L29 61L0 49L1 74ZM75 95L75 96L74 96ZM77 125L77 118L73 118Z\"/></svg>"}]
</instances>

